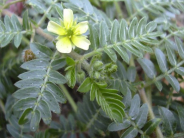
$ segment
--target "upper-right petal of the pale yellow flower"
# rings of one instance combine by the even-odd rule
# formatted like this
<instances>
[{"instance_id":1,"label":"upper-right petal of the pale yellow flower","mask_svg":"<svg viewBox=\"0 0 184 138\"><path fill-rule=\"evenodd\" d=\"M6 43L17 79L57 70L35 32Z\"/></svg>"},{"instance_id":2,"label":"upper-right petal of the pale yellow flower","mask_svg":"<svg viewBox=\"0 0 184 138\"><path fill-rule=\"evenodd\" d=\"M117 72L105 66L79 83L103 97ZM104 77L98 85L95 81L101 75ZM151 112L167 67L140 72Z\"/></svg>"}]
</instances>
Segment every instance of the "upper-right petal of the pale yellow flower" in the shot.
<instances>
[{"instance_id":1,"label":"upper-right petal of the pale yellow flower","mask_svg":"<svg viewBox=\"0 0 184 138\"><path fill-rule=\"evenodd\" d=\"M81 35L88 30L88 21L80 22L76 25L74 34Z\"/></svg>"}]
</instances>

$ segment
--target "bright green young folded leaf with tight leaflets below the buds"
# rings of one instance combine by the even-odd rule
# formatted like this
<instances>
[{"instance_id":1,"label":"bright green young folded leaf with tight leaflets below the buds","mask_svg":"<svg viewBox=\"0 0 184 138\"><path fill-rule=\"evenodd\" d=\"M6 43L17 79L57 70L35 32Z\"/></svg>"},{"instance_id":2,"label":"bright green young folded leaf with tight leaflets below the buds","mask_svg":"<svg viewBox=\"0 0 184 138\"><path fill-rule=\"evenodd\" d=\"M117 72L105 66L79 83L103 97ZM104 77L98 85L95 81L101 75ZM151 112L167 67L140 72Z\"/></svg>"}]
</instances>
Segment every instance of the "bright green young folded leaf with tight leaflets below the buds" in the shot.
<instances>
[{"instance_id":1,"label":"bright green young folded leaf with tight leaflets below the buds","mask_svg":"<svg viewBox=\"0 0 184 138\"><path fill-rule=\"evenodd\" d=\"M86 87L86 83L91 86ZM89 89L90 88L90 89ZM86 78L79 87L79 92L87 92L90 90L90 100L96 97L97 103L102 107L105 113L113 120L122 122L124 115L124 105L121 102L122 97L117 94L115 89L107 89L103 82L95 82L90 78Z\"/></svg>"}]
</instances>

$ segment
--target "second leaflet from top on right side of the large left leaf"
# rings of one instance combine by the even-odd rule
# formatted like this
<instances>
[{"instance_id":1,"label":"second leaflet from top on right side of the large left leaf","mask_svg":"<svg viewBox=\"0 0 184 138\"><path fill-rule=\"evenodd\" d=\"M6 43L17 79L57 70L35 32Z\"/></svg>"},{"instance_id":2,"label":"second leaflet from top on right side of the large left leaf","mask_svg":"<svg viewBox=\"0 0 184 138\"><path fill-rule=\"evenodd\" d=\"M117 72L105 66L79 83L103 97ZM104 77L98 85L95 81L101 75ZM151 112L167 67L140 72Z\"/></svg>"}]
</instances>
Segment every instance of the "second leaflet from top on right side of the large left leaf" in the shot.
<instances>
[{"instance_id":1,"label":"second leaflet from top on right side of the large left leaf","mask_svg":"<svg viewBox=\"0 0 184 138\"><path fill-rule=\"evenodd\" d=\"M67 82L65 77L55 70L50 70L49 81L56 84L65 84Z\"/></svg>"}]
</instances>

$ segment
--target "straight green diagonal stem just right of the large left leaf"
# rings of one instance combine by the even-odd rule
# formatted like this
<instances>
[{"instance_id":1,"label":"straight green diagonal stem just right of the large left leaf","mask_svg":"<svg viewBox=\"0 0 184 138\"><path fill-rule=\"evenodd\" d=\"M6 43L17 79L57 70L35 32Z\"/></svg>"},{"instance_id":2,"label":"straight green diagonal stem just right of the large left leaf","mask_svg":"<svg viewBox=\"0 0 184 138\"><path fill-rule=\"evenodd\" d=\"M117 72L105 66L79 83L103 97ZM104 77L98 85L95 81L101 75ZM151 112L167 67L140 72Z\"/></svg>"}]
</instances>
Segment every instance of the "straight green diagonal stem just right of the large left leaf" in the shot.
<instances>
[{"instance_id":1,"label":"straight green diagonal stem just right of the large left leaf","mask_svg":"<svg viewBox=\"0 0 184 138\"><path fill-rule=\"evenodd\" d=\"M73 98L70 96L69 92L67 91L67 89L65 88L64 85L59 85L60 88L62 89L63 93L65 94L68 102L70 103L70 105L72 106L73 110L75 112L77 112L77 105L75 104Z\"/></svg>"}]
</instances>

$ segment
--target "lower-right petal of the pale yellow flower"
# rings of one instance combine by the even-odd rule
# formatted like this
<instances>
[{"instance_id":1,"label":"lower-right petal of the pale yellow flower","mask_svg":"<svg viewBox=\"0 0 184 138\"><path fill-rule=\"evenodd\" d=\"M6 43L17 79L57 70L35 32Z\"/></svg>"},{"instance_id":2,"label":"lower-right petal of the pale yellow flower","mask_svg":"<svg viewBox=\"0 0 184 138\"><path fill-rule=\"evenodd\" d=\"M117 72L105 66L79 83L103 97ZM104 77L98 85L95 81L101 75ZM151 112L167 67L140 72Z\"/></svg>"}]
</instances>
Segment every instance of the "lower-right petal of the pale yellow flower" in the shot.
<instances>
[{"instance_id":1,"label":"lower-right petal of the pale yellow flower","mask_svg":"<svg viewBox=\"0 0 184 138\"><path fill-rule=\"evenodd\" d=\"M88 50L89 45L91 44L85 36L73 36L72 42L74 43L74 45L84 50Z\"/></svg>"}]
</instances>

